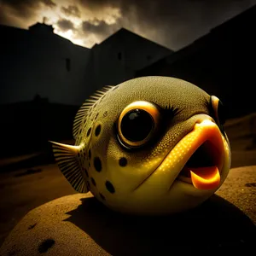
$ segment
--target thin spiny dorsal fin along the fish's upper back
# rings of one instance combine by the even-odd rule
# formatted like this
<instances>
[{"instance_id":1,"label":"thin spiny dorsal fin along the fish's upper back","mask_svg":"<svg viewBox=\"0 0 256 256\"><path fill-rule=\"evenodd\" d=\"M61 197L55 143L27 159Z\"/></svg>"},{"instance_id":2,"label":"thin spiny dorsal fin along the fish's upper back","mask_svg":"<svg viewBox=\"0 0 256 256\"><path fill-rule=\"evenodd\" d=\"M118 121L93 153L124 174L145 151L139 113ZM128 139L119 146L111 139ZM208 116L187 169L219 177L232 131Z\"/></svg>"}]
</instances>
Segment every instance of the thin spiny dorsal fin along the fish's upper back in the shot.
<instances>
[{"instance_id":1,"label":"thin spiny dorsal fin along the fish's upper back","mask_svg":"<svg viewBox=\"0 0 256 256\"><path fill-rule=\"evenodd\" d=\"M75 119L73 121L73 138L76 139L79 127L83 121L83 119L86 118L87 112L90 109L90 107L98 101L108 90L112 89L114 86L107 85L104 86L101 90L96 90L96 92L87 99L84 104L79 108L78 113L75 116Z\"/></svg>"}]
</instances>

